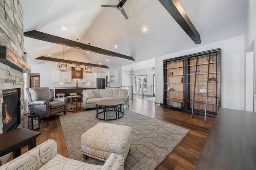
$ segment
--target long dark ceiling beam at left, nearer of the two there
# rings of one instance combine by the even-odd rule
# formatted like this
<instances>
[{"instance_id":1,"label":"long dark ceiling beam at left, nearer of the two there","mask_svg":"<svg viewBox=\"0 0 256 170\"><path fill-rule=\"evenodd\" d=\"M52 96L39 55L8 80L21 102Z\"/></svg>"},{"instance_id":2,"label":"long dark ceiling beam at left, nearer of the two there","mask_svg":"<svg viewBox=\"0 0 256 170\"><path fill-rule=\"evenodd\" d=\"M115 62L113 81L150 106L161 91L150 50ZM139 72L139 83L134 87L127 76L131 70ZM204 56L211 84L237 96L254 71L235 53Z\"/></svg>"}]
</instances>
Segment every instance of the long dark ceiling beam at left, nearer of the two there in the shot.
<instances>
[{"instance_id":1,"label":"long dark ceiling beam at left, nearer of the two there","mask_svg":"<svg viewBox=\"0 0 256 170\"><path fill-rule=\"evenodd\" d=\"M79 43L79 42L72 41L72 40L69 40L69 39L57 37L55 35L42 33L42 32L36 31L36 30L24 32L24 36L34 38L34 39L39 39L39 40L42 40L42 41L47 41L47 42L50 42L50 43L55 43L55 44L69 46L69 47L74 47L74 48L81 49L81 50L91 51L91 52L94 52L94 53L108 55L108 56L111 56L111 57L116 57L116 58L135 61L132 57L127 56L127 55L122 55L122 54L119 54L119 53L115 53L113 51L108 51L108 50L101 49L101 48L98 48L98 47L94 47L94 46L91 46L91 45L87 45L87 44Z\"/></svg>"}]
</instances>

